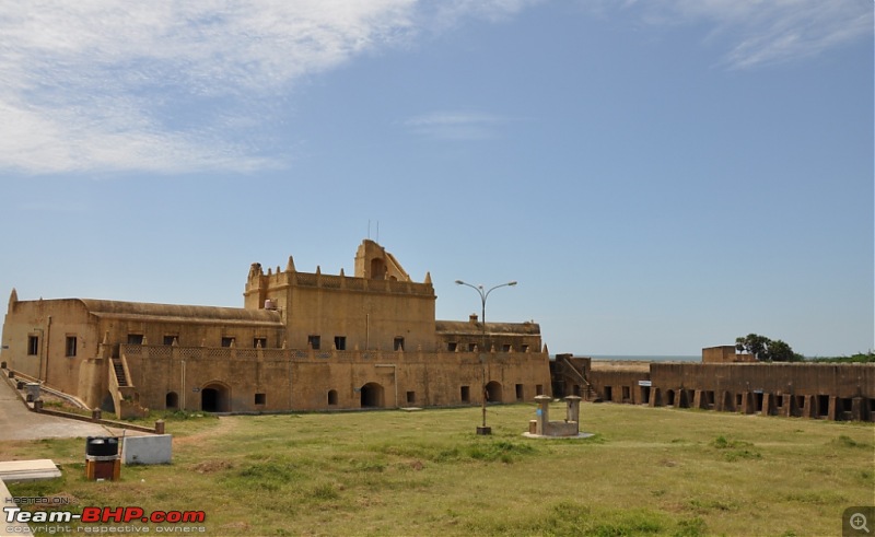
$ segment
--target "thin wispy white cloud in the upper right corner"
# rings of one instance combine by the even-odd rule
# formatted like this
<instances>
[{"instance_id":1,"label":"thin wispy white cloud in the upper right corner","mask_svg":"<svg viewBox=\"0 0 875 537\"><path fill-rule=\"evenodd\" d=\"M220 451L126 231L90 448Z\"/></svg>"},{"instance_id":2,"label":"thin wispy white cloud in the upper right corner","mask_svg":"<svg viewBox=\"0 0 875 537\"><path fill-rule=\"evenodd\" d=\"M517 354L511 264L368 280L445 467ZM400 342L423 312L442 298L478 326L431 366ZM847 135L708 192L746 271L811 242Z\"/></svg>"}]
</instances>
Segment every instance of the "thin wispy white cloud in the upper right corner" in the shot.
<instances>
[{"instance_id":1,"label":"thin wispy white cloud in the upper right corner","mask_svg":"<svg viewBox=\"0 0 875 537\"><path fill-rule=\"evenodd\" d=\"M709 42L727 44L723 61L734 69L817 56L873 28L871 0L630 0L625 8L649 24L712 25Z\"/></svg>"}]
</instances>

